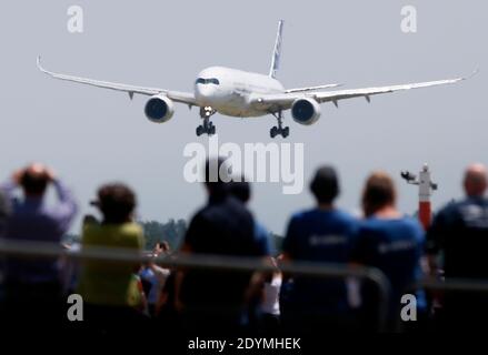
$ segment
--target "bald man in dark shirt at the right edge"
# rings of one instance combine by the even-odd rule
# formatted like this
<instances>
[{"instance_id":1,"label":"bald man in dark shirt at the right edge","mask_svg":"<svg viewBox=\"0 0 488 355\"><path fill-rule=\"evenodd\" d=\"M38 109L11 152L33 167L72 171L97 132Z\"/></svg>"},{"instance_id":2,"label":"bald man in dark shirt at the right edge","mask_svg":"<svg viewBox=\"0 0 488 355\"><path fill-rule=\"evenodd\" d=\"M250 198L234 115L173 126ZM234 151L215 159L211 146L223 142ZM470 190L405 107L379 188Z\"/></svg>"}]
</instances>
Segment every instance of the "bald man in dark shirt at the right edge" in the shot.
<instances>
[{"instance_id":1,"label":"bald man in dark shirt at the right edge","mask_svg":"<svg viewBox=\"0 0 488 355\"><path fill-rule=\"evenodd\" d=\"M427 234L430 268L437 271L437 256L444 254L444 272L449 278L488 278L488 199L487 169L482 164L468 166L464 179L466 199L439 211ZM445 324L465 327L476 324L475 317L488 316L485 293L446 294Z\"/></svg>"}]
</instances>

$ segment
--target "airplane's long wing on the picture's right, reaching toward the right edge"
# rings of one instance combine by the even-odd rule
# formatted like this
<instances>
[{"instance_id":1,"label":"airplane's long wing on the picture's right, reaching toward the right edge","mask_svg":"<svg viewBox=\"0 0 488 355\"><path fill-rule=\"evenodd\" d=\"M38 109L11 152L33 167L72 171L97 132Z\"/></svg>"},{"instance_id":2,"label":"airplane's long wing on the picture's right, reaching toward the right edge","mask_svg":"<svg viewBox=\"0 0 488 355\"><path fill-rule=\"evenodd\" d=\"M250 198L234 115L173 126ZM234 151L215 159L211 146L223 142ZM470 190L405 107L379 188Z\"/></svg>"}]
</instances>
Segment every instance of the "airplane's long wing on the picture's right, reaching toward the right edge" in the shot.
<instances>
[{"instance_id":1,"label":"airplane's long wing on the picture's right, reaching toward the right edge","mask_svg":"<svg viewBox=\"0 0 488 355\"><path fill-rule=\"evenodd\" d=\"M475 71L470 77L476 74L476 72L477 71ZM438 81L426 81L426 82L417 82L417 83L390 85L390 87L346 89L346 90L335 90L335 91L315 91L315 92L285 92L279 94L256 95L255 98L251 99L251 102L255 108L260 110L269 110L271 112L290 109L295 100L303 99L303 98L313 99L319 103L333 102L333 104L336 104L337 106L338 105L337 102L339 100L362 97L366 98L366 100L369 102L370 97L372 95L402 91L402 90L410 90L410 89L454 84L459 81L469 79L470 77L438 80Z\"/></svg>"}]
</instances>

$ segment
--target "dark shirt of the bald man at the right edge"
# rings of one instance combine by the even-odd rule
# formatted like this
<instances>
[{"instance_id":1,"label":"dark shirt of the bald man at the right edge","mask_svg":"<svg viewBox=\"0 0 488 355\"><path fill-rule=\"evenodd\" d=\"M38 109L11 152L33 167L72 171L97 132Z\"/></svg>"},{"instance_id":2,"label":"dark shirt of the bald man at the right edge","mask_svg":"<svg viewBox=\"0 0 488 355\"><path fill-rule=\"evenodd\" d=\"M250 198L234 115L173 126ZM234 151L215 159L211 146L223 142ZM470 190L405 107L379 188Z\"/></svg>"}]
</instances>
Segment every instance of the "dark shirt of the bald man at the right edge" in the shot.
<instances>
[{"instance_id":1,"label":"dark shirt of the bald man at the right edge","mask_svg":"<svg viewBox=\"0 0 488 355\"><path fill-rule=\"evenodd\" d=\"M470 197L442 209L427 233L427 252L444 252L447 277L488 277L488 200Z\"/></svg>"}]
</instances>

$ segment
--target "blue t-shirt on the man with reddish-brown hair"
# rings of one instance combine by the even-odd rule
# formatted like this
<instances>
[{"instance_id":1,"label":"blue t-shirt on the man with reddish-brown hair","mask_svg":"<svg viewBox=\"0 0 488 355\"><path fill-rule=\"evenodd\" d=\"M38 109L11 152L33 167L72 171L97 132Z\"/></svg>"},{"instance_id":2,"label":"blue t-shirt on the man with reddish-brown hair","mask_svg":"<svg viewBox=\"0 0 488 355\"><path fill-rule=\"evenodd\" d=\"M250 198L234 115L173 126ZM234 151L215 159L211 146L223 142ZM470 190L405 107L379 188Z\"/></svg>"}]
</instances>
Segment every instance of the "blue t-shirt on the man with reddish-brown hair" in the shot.
<instances>
[{"instance_id":1,"label":"blue t-shirt on the man with reddish-brown hair","mask_svg":"<svg viewBox=\"0 0 488 355\"><path fill-rule=\"evenodd\" d=\"M353 262L377 267L385 273L391 286L392 310L400 306L404 294L412 293L410 286L421 277L420 257L424 246L425 233L417 220L370 217L359 225L351 257ZM366 303L372 292L377 291L365 290ZM425 306L421 293L417 293L417 306Z\"/></svg>"}]
</instances>

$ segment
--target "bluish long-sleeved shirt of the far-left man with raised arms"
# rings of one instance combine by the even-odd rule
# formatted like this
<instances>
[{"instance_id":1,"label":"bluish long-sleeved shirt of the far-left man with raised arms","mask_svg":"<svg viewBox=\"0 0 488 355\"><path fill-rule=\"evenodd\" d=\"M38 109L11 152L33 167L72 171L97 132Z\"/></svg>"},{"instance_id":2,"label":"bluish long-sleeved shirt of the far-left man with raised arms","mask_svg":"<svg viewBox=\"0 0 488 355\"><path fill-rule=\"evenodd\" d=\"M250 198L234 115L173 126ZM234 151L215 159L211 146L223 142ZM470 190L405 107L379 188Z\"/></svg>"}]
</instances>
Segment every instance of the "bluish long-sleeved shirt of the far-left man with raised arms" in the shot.
<instances>
[{"instance_id":1,"label":"bluish long-sleeved shirt of the far-left man with raised arms","mask_svg":"<svg viewBox=\"0 0 488 355\"><path fill-rule=\"evenodd\" d=\"M61 182L54 181L52 185L59 200L52 207L47 206L41 196L28 196L19 201L13 195L17 187L13 182L1 187L12 204L4 239L51 243L61 241L76 215L77 204ZM20 261L9 257L6 262L6 280L20 283L58 282L58 262L56 260Z\"/></svg>"}]
</instances>

